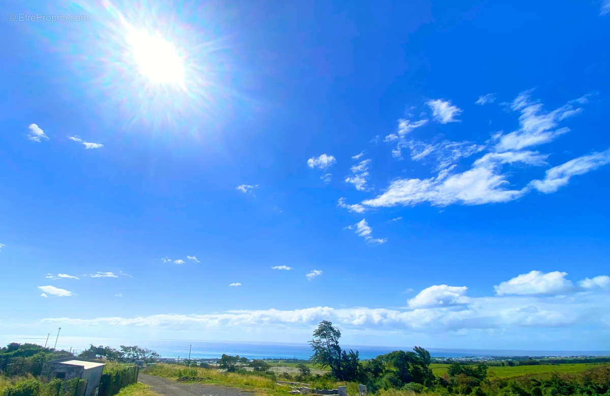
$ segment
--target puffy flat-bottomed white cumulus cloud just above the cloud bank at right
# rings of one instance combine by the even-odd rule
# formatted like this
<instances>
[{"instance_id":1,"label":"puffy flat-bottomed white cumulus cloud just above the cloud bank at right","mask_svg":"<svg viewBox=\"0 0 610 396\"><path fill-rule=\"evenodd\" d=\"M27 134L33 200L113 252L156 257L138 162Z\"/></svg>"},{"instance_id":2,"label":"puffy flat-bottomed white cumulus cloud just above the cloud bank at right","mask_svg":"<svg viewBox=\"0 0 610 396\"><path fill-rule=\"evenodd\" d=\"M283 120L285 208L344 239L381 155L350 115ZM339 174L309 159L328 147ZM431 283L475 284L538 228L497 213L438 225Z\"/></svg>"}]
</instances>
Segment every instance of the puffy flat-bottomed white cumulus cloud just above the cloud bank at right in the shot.
<instances>
[{"instance_id":1,"label":"puffy flat-bottomed white cumulus cloud just above the cloud bank at right","mask_svg":"<svg viewBox=\"0 0 610 396\"><path fill-rule=\"evenodd\" d=\"M556 295L569 293L573 290L572 281L565 279L567 273L553 271L542 273L530 271L520 274L509 281L494 286L498 296L503 295Z\"/></svg>"}]
</instances>

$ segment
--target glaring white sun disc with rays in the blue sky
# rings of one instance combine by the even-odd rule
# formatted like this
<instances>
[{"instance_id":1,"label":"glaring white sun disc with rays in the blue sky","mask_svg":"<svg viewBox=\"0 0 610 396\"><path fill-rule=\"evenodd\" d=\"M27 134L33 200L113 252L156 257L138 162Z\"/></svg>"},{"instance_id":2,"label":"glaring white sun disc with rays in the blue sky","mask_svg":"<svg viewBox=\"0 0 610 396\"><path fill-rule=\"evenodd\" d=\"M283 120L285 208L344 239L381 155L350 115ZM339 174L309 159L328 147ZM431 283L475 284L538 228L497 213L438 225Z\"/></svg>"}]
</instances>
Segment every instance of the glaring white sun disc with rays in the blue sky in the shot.
<instances>
[{"instance_id":1,"label":"glaring white sun disc with rays in the blue sky","mask_svg":"<svg viewBox=\"0 0 610 396\"><path fill-rule=\"evenodd\" d=\"M151 82L184 85L184 61L172 43L136 29L130 29L127 43L140 72Z\"/></svg>"}]
</instances>

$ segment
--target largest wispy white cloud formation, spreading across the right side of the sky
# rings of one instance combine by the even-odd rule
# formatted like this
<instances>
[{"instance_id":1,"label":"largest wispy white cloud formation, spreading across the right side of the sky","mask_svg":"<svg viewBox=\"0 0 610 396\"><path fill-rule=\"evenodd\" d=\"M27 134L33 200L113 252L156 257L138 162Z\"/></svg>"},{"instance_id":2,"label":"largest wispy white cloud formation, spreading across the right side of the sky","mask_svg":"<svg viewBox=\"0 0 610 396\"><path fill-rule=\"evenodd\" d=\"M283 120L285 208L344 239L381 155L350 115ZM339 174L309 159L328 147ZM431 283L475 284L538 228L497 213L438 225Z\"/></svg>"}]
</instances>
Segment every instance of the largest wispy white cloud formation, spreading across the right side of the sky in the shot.
<instances>
[{"instance_id":1,"label":"largest wispy white cloud formation, spreading across the right side of the sky","mask_svg":"<svg viewBox=\"0 0 610 396\"><path fill-rule=\"evenodd\" d=\"M559 123L581 111L580 105L588 103L591 95L570 100L566 105L551 112L542 110L542 103L529 97L530 91L522 92L510 104L511 109L521 113L520 129L512 133L495 134L486 144L475 142L425 143L400 140L393 154L403 147L411 150L411 159L436 158L436 175L427 178L400 177L392 180L386 190L372 199L361 202L365 207L394 207L416 205L428 202L434 206L483 205L509 202L519 199L537 189L542 193L553 193L567 185L574 175L582 175L610 163L610 149L595 152L568 161L547 170L543 180L532 180L522 187L515 187L509 181L512 169L522 167L547 166L548 154L525 150L524 147L550 141L561 133ZM511 149L512 148L512 149ZM484 152L470 168L458 172L459 161L475 153ZM345 202L339 203L346 207Z\"/></svg>"}]
</instances>

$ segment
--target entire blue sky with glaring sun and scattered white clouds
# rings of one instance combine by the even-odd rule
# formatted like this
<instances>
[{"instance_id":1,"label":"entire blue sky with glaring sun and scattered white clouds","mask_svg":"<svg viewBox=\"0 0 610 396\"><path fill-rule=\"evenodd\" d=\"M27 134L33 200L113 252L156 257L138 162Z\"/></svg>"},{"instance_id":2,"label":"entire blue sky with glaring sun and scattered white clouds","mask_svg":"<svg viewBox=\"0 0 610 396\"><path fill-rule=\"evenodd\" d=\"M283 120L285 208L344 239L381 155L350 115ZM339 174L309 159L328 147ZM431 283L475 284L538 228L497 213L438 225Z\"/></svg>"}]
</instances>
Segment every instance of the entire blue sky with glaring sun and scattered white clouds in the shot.
<instances>
[{"instance_id":1,"label":"entire blue sky with glaring sun and scattered white clouds","mask_svg":"<svg viewBox=\"0 0 610 396\"><path fill-rule=\"evenodd\" d=\"M5 339L610 350L607 1L2 8Z\"/></svg>"}]
</instances>

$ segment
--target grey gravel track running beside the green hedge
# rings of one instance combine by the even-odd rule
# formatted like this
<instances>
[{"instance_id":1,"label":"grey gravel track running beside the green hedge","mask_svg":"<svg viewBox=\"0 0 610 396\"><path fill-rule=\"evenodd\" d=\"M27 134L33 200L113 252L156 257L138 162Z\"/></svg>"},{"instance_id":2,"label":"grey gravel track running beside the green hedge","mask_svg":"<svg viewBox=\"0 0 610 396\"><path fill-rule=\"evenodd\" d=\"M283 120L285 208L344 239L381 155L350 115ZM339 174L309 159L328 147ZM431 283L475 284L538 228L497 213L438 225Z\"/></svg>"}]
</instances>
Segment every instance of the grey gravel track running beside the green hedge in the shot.
<instances>
[{"instance_id":1,"label":"grey gravel track running beside the green hedge","mask_svg":"<svg viewBox=\"0 0 610 396\"><path fill-rule=\"evenodd\" d=\"M242 389L208 385L200 383L182 384L168 378L156 375L138 375L138 381L149 385L153 392L163 396L249 396L254 392L242 391Z\"/></svg>"}]
</instances>

